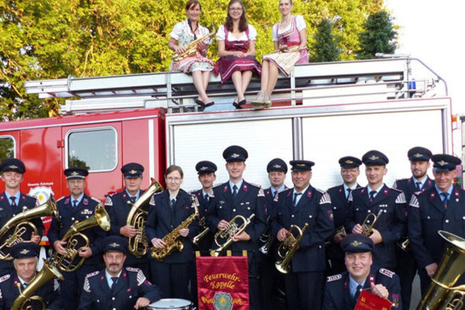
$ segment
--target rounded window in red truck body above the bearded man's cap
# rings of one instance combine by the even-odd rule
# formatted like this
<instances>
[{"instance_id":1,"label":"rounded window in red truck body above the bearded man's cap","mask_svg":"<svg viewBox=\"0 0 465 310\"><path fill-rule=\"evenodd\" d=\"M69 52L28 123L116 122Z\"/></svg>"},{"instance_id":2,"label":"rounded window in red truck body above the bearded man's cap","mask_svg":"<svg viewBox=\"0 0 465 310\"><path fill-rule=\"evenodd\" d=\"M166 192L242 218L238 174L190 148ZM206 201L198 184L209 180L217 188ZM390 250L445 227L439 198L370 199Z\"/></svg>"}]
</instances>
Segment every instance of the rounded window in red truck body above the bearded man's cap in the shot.
<instances>
[{"instance_id":1,"label":"rounded window in red truck body above the bearded man's cap","mask_svg":"<svg viewBox=\"0 0 465 310\"><path fill-rule=\"evenodd\" d=\"M68 167L84 167L89 172L111 171L118 162L116 131L102 129L68 133L67 150Z\"/></svg>"}]
</instances>

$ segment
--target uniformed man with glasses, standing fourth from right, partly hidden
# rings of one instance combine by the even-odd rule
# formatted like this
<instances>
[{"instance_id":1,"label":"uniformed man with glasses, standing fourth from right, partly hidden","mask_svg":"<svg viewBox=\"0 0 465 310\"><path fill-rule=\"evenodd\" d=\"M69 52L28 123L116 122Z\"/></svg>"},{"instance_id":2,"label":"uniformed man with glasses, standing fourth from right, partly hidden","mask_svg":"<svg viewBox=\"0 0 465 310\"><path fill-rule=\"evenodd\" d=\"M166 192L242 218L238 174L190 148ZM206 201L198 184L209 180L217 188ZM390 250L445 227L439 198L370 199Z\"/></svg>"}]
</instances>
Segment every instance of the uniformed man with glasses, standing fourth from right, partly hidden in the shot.
<instances>
[{"instance_id":1,"label":"uniformed man with glasses, standing fourth from right, partly hidden","mask_svg":"<svg viewBox=\"0 0 465 310\"><path fill-rule=\"evenodd\" d=\"M339 159L341 177L344 183L328 190L331 197L332 214L334 216L334 232L330 241L326 243L326 275L341 273L346 269L341 241L347 236L344 224L347 217L349 194L357 187L357 177L360 175L359 166L362 161L354 156L344 156Z\"/></svg>"}]
</instances>

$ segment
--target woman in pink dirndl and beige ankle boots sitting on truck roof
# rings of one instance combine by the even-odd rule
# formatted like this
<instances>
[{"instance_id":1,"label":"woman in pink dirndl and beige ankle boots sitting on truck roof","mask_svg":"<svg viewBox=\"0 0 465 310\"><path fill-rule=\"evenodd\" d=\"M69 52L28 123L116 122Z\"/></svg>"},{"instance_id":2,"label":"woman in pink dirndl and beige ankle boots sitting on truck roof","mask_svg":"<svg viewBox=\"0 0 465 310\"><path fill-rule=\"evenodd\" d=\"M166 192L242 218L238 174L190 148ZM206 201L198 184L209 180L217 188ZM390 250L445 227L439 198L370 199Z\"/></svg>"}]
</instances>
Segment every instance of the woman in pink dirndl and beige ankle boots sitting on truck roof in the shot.
<instances>
[{"instance_id":1,"label":"woman in pink dirndl and beige ankle boots sitting on truck roof","mask_svg":"<svg viewBox=\"0 0 465 310\"><path fill-rule=\"evenodd\" d=\"M292 0L279 0L281 22L273 25L274 49L277 52L263 56L261 87L254 108L271 107L271 93L276 86L279 71L289 76L295 64L307 64L307 26L302 15L292 15Z\"/></svg>"}]
</instances>

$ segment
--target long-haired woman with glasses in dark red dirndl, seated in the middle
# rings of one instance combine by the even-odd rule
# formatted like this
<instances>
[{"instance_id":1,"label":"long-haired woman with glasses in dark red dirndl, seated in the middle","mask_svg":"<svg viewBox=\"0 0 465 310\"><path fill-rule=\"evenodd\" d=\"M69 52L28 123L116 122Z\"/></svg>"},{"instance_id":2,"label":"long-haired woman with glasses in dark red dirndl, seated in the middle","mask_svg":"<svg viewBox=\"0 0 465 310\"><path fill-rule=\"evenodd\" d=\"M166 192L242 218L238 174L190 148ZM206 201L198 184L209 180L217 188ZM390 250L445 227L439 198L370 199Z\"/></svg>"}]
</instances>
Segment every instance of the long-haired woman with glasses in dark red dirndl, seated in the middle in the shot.
<instances>
[{"instance_id":1,"label":"long-haired woman with glasses in dark red dirndl, seated in the middle","mask_svg":"<svg viewBox=\"0 0 465 310\"><path fill-rule=\"evenodd\" d=\"M237 97L233 102L236 109L246 103L245 90L252 74L260 76L260 63L255 59L257 31L247 23L245 7L241 0L231 0L228 4L226 22L217 32L218 54L220 59L213 74L221 75L221 85L229 78L233 81Z\"/></svg>"}]
</instances>

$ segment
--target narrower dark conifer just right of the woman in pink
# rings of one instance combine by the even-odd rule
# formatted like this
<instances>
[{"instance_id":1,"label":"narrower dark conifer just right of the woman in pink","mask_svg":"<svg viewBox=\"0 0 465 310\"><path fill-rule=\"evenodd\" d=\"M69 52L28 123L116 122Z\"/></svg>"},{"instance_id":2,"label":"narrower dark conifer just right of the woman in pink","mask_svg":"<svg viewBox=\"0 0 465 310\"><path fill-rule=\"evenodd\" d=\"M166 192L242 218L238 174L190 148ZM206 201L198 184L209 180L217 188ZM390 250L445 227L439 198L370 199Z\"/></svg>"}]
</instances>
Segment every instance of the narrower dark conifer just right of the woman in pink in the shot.
<instances>
[{"instance_id":1,"label":"narrower dark conifer just right of the woman in pink","mask_svg":"<svg viewBox=\"0 0 465 310\"><path fill-rule=\"evenodd\" d=\"M317 26L315 42L310 49L310 62L332 62L339 60L339 39L332 34L332 22L322 19Z\"/></svg>"}]
</instances>

